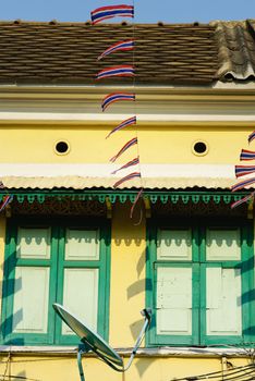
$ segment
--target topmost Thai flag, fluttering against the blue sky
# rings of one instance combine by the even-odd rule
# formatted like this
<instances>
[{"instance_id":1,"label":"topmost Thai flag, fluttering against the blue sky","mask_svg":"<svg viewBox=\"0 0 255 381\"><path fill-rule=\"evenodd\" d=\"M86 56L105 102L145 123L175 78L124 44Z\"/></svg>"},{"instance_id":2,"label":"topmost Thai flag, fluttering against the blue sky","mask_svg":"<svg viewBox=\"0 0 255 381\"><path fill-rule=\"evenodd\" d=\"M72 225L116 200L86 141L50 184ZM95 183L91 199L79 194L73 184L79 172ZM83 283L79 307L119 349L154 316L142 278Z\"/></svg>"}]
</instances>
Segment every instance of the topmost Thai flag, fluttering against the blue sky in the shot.
<instances>
[{"instance_id":1,"label":"topmost Thai flag, fluttering against the blue sky","mask_svg":"<svg viewBox=\"0 0 255 381\"><path fill-rule=\"evenodd\" d=\"M134 7L125 4L100 7L92 11L90 15L93 25L112 17L134 17Z\"/></svg>"}]
</instances>

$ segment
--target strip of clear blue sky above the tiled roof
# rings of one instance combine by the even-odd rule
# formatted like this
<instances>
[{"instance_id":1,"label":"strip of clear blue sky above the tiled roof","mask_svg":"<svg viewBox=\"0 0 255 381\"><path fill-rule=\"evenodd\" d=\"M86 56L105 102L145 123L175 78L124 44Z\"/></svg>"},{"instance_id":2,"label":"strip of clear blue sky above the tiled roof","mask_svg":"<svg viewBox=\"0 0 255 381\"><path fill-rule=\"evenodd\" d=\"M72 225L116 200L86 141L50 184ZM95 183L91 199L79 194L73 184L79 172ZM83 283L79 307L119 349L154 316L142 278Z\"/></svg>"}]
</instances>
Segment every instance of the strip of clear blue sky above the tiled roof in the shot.
<instances>
[{"instance_id":1,"label":"strip of clear blue sky above the tiled roof","mask_svg":"<svg viewBox=\"0 0 255 381\"><path fill-rule=\"evenodd\" d=\"M84 22L93 9L133 0L5 0L1 20ZM137 23L255 19L255 0L134 0ZM116 20L117 22L118 20Z\"/></svg>"}]
</instances>

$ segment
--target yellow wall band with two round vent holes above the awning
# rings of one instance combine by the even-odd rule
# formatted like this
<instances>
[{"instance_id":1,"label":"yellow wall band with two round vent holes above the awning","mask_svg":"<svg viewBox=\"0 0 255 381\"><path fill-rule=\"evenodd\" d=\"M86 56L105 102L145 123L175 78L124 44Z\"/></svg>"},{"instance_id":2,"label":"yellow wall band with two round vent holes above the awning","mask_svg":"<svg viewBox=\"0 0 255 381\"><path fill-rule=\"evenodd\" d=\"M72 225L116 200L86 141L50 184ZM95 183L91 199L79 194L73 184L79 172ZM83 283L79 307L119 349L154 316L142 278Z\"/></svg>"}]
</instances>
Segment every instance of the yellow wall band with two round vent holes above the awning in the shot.
<instances>
[{"instance_id":1,"label":"yellow wall band with two round vent holes above the awning","mask_svg":"<svg viewBox=\"0 0 255 381\"><path fill-rule=\"evenodd\" d=\"M114 126L114 125L113 125ZM113 127L112 126L112 127ZM136 132L126 128L106 140L111 126L10 126L0 127L0 162L31 163L107 163ZM247 148L248 126L181 126L137 124L142 163L236 163L241 148ZM70 144L70 152L59 156L54 145L59 140ZM195 140L208 144L208 155L192 152ZM251 145L253 149L253 145ZM120 161L136 155L136 146L126 151Z\"/></svg>"}]
</instances>

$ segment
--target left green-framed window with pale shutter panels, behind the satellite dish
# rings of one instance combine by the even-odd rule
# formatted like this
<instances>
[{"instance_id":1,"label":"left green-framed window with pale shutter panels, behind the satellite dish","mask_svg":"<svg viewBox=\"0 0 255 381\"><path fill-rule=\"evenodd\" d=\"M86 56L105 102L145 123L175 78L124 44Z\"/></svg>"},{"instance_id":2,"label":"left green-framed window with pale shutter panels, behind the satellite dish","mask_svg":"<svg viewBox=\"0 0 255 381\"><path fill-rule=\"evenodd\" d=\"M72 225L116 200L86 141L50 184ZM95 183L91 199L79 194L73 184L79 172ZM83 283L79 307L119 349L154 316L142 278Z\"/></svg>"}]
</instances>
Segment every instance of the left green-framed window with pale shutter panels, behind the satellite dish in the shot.
<instances>
[{"instance_id":1,"label":"left green-framed window with pale shutter panels, behind the satellite dish","mask_svg":"<svg viewBox=\"0 0 255 381\"><path fill-rule=\"evenodd\" d=\"M92 219L10 222L4 261L3 343L77 343L53 311L54 302L107 339L109 245L109 226Z\"/></svg>"}]
</instances>

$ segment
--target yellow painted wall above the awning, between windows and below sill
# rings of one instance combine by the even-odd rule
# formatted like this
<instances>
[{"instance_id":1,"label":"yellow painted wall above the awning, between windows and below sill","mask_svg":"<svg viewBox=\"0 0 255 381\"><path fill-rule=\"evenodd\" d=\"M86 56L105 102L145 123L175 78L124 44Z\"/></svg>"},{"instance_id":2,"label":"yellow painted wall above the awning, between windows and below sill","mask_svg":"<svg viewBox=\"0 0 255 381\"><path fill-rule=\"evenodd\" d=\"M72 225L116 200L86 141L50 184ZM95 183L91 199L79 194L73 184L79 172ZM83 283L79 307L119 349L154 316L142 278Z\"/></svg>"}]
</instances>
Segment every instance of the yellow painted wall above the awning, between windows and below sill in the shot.
<instances>
[{"instance_id":1,"label":"yellow painted wall above the awning, between windows and below sill","mask_svg":"<svg viewBox=\"0 0 255 381\"><path fill-rule=\"evenodd\" d=\"M134 131L123 131L106 140L109 126L2 126L1 139L4 145L0 151L0 162L44 162L44 163L104 163L119 148L134 136ZM22 132L22 133L21 133ZM139 156L143 163L236 163L240 149L247 148L250 127L207 126L181 127L160 126L138 128ZM69 155L56 155L53 147L57 140L68 140L71 145ZM192 153L192 144L205 140L209 152L204 157ZM251 147L252 148L252 147ZM134 150L133 150L134 149ZM134 157L132 150L123 161ZM136 151L135 151L136 152ZM113 347L132 347L142 327L139 315L145 307L145 218L138 225L136 213L132 221L129 207L117 206L112 218L111 246L111 283L109 342ZM5 226L0 219L0 262L3 263L3 237ZM2 271L0 271L0 281ZM0 359L1 374L19 374L44 381L78 381L76 359L73 356L24 357L12 355ZM126 362L127 359L125 359ZM247 364L247 359L230 359L233 365ZM196 357L139 357L123 376L117 373L95 358L84 359L86 381L170 381L173 378L218 371L222 367L220 358Z\"/></svg>"}]
</instances>

